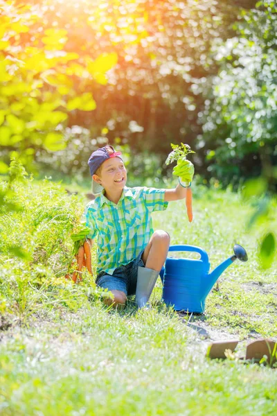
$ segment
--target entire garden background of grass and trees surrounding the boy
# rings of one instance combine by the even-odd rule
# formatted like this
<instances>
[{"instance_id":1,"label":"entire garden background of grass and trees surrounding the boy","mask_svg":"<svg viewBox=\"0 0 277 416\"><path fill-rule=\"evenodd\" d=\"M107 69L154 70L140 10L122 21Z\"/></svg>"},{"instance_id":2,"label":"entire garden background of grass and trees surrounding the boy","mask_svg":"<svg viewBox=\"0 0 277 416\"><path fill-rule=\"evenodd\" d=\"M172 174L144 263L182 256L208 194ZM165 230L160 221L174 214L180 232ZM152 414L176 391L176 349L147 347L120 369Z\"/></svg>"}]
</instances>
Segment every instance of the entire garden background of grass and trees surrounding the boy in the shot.
<instances>
[{"instance_id":1,"label":"entire garden background of grass and trees surrounding the boy","mask_svg":"<svg viewBox=\"0 0 277 416\"><path fill-rule=\"evenodd\" d=\"M276 370L204 358L211 340L277 336L277 5L251 0L0 0L0 413L274 415ZM107 311L74 285L70 235L87 160L123 152L129 186L173 187L170 144L195 154L184 201L154 215L214 268L244 245L206 313ZM93 270L96 252L93 249Z\"/></svg>"}]
</instances>

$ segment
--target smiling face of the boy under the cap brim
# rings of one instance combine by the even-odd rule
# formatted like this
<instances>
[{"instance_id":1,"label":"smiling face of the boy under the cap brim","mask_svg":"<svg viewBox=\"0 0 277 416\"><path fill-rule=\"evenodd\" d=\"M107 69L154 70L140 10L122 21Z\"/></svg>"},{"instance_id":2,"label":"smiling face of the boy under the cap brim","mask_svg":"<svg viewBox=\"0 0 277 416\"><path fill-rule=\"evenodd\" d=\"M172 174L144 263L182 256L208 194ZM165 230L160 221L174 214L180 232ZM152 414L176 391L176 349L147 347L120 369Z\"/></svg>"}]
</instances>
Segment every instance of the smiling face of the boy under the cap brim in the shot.
<instances>
[{"instance_id":1,"label":"smiling face of the boy under the cap brim","mask_svg":"<svg viewBox=\"0 0 277 416\"><path fill-rule=\"evenodd\" d=\"M106 191L115 191L125 187L127 171L119 157L111 157L102 163L99 176L94 174L92 177Z\"/></svg>"}]
</instances>

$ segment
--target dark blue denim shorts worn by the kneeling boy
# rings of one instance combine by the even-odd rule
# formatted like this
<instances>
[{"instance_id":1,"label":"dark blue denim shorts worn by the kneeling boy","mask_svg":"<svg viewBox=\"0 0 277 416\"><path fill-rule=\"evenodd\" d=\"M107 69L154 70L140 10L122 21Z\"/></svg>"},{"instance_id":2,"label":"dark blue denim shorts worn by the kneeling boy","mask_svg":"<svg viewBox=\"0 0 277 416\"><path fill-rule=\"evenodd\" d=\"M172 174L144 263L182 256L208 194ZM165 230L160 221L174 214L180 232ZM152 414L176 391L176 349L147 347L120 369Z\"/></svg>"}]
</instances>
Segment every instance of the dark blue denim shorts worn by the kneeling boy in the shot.
<instances>
[{"instance_id":1,"label":"dark blue denim shorts worn by the kneeling boy","mask_svg":"<svg viewBox=\"0 0 277 416\"><path fill-rule=\"evenodd\" d=\"M145 267L143 259L143 251L139 253L133 261L125 266L119 266L114 270L112 275L107 275L106 272L100 272L96 278L96 284L101 288L107 288L109 291L124 292L125 295L136 294L136 280L138 278L138 268Z\"/></svg>"}]
</instances>

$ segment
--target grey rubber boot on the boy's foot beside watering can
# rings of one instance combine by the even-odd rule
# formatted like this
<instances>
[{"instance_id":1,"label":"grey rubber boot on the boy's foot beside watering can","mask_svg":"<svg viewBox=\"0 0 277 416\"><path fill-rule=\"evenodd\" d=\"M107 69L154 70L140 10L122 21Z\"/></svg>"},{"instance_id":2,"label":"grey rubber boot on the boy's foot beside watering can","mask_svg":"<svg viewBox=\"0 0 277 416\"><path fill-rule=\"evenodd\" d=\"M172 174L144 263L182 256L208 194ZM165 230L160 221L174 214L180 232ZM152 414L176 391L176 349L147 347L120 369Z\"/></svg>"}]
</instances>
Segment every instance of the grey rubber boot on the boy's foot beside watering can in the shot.
<instances>
[{"instance_id":1,"label":"grey rubber boot on the boy's foot beside watering can","mask_svg":"<svg viewBox=\"0 0 277 416\"><path fill-rule=\"evenodd\" d=\"M138 268L138 279L136 281L136 304L142 308L147 304L158 279L159 272L146 267Z\"/></svg>"}]
</instances>

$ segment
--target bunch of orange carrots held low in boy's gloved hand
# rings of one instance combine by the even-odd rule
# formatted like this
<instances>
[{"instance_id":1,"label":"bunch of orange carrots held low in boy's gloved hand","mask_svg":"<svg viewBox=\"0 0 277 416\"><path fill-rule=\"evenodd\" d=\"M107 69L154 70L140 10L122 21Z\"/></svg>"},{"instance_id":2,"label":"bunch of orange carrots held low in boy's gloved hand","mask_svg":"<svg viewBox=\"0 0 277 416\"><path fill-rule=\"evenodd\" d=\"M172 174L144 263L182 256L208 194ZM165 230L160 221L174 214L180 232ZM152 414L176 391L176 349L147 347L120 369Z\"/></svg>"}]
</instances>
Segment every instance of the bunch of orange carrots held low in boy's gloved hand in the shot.
<instances>
[{"instance_id":1,"label":"bunch of orange carrots held low in boy's gloved hand","mask_svg":"<svg viewBox=\"0 0 277 416\"><path fill-rule=\"evenodd\" d=\"M91 268L91 243L87 239L87 234L89 234L90 229L84 228L80 232L71 234L71 239L74 242L73 246L73 256L77 261L77 270L73 272L72 277L66 275L66 279L72 279L75 283L82 281L82 268L86 267L88 272L92 275ZM75 260L71 266L75 264Z\"/></svg>"}]
</instances>

